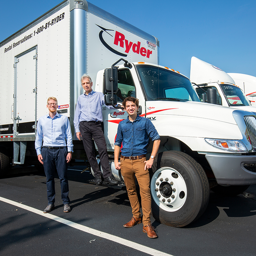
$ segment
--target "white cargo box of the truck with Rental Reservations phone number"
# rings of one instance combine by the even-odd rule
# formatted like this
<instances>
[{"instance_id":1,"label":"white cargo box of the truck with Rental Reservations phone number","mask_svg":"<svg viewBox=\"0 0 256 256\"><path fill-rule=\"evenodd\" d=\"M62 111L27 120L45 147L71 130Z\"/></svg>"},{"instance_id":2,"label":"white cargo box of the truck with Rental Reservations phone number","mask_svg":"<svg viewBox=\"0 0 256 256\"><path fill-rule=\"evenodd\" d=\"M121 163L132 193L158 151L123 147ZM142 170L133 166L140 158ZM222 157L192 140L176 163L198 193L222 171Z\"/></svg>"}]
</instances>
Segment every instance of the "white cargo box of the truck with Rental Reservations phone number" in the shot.
<instances>
[{"instance_id":1,"label":"white cargo box of the truck with Rental Reservations phone number","mask_svg":"<svg viewBox=\"0 0 256 256\"><path fill-rule=\"evenodd\" d=\"M75 139L81 76L91 76L95 85L97 72L120 57L157 64L158 52L156 37L89 2L63 1L0 43L0 147L10 155L14 150L14 164L24 164L25 154L31 164L30 142L38 118L47 113L49 96L70 118Z\"/></svg>"}]
</instances>

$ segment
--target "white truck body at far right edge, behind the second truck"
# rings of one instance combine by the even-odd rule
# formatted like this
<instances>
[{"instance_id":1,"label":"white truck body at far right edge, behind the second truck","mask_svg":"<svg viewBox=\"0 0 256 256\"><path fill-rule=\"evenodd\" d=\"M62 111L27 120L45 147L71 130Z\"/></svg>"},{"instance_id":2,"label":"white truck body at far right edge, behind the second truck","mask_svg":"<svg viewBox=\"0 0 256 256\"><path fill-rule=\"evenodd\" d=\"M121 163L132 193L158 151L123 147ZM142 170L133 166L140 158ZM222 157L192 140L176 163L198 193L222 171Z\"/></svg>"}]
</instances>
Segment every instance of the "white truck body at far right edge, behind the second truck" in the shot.
<instances>
[{"instance_id":1,"label":"white truck body at far right edge, behind the second truck","mask_svg":"<svg viewBox=\"0 0 256 256\"><path fill-rule=\"evenodd\" d=\"M256 106L256 77L239 73L227 73L245 93L252 106Z\"/></svg>"}]
</instances>

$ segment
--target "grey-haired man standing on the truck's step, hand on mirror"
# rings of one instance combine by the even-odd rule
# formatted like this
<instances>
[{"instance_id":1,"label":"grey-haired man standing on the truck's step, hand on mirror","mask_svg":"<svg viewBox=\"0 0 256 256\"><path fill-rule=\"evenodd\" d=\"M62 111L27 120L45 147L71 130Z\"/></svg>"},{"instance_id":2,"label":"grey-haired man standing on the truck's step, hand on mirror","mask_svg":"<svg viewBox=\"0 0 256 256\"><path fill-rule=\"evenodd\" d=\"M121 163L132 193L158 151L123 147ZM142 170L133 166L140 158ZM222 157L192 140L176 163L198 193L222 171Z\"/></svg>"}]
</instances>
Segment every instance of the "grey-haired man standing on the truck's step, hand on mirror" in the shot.
<instances>
[{"instance_id":1,"label":"grey-haired man standing on the truck's step, hand on mirror","mask_svg":"<svg viewBox=\"0 0 256 256\"><path fill-rule=\"evenodd\" d=\"M90 76L83 75L81 77L81 84L85 92L78 97L76 104L74 117L76 137L78 140L81 140L80 137L82 137L84 150L95 175L95 184L100 185L104 179L104 182L115 185L118 182L111 177L112 174L108 163L106 140L102 131L102 105L105 104L104 94L92 90L92 79ZM112 106L107 107L114 109ZM100 155L103 179L94 154L94 142L98 147Z\"/></svg>"}]
</instances>

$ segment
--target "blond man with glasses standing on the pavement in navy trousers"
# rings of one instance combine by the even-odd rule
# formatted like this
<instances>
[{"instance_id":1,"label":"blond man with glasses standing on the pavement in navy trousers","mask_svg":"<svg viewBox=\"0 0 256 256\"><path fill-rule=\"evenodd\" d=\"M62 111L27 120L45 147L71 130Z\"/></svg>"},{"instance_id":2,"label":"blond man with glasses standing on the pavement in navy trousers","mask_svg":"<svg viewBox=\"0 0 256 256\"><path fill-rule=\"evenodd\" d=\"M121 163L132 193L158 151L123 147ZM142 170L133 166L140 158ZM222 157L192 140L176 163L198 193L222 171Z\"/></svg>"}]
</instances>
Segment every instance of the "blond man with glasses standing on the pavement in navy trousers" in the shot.
<instances>
[{"instance_id":1,"label":"blond man with glasses standing on the pavement in navy trousers","mask_svg":"<svg viewBox=\"0 0 256 256\"><path fill-rule=\"evenodd\" d=\"M55 97L48 98L46 108L49 109L49 113L38 119L35 142L37 157L39 162L44 164L44 172L46 175L48 206L44 209L44 213L51 212L54 208L55 167L60 178L64 212L70 212L67 175L68 163L72 158L73 151L70 123L67 116L57 113L58 101Z\"/></svg>"}]
</instances>

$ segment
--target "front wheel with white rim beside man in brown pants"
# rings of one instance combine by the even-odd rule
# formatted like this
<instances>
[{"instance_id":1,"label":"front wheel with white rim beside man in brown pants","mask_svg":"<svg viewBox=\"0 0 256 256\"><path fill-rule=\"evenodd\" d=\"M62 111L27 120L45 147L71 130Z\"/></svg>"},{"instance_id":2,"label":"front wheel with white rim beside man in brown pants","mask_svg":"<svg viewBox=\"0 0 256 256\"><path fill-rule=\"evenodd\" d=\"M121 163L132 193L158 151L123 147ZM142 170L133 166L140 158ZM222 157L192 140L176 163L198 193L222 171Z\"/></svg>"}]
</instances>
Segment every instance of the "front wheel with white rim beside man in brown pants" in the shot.
<instances>
[{"instance_id":1,"label":"front wheel with white rim beside man in brown pants","mask_svg":"<svg viewBox=\"0 0 256 256\"><path fill-rule=\"evenodd\" d=\"M200 164L180 151L159 153L152 165L152 214L172 227L198 219L209 201L209 182Z\"/></svg>"}]
</instances>

